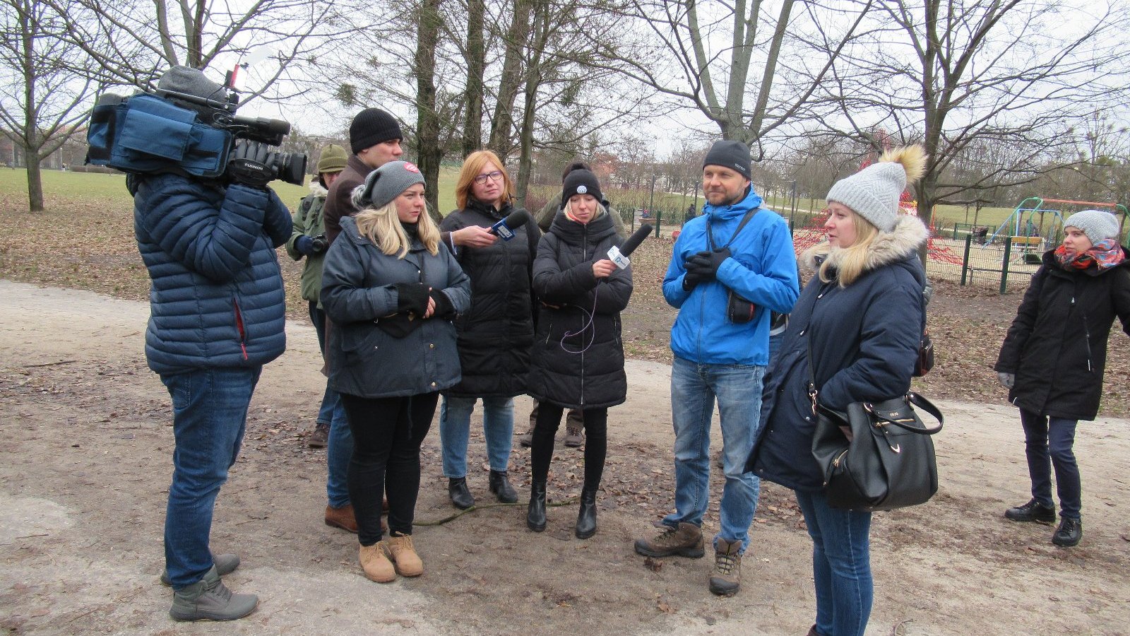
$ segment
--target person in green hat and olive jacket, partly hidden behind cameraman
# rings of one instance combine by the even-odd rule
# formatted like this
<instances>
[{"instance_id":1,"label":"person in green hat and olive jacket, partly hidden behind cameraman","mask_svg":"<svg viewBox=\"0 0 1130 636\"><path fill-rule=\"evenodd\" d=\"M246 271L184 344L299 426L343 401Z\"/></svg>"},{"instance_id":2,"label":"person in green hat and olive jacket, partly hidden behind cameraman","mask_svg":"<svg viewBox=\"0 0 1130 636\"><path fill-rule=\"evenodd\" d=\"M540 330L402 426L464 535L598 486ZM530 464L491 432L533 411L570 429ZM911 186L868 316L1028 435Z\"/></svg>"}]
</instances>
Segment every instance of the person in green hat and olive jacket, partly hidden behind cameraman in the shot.
<instances>
[{"instance_id":1,"label":"person in green hat and olive jacket, partly hidden behind cameraman","mask_svg":"<svg viewBox=\"0 0 1130 636\"><path fill-rule=\"evenodd\" d=\"M310 182L310 194L298 204L292 220L294 231L290 240L286 242L286 252L295 260L306 258L306 264L302 268L302 298L310 302L310 319L314 323L314 330L318 333L318 349L325 353L325 312L318 300L322 292L322 261L325 260L325 249L329 241L325 240L325 225L322 220L322 210L325 206L325 195L330 186L346 167L346 149L341 146L330 144L322 149L322 155L318 160L318 177ZM333 409L338 403L337 394L329 387L322 395L322 405L318 410L318 420L314 429L306 437L306 446L311 448L324 448L330 436L330 421L333 418ZM348 502L338 504L342 506ZM332 505L333 501L330 501Z\"/></svg>"}]
</instances>

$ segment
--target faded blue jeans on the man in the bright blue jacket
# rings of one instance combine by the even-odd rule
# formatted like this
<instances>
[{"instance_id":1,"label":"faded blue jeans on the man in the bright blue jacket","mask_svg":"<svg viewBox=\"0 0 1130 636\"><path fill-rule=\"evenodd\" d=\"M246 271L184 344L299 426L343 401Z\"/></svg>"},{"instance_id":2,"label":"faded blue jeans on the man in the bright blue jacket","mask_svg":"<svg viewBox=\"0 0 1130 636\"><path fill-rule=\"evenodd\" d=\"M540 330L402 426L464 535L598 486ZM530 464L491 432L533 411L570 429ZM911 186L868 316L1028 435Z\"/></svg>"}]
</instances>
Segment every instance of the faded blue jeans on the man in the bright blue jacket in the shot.
<instances>
[{"instance_id":1,"label":"faded blue jeans on the man in the bright blue jacket","mask_svg":"<svg viewBox=\"0 0 1130 636\"><path fill-rule=\"evenodd\" d=\"M760 428L765 367L696 364L676 356L671 366L671 414L675 423L675 513L663 523L701 526L710 500L710 422L718 398L722 420L721 536L749 545L760 481L745 472ZM716 538L715 538L716 540Z\"/></svg>"}]
</instances>

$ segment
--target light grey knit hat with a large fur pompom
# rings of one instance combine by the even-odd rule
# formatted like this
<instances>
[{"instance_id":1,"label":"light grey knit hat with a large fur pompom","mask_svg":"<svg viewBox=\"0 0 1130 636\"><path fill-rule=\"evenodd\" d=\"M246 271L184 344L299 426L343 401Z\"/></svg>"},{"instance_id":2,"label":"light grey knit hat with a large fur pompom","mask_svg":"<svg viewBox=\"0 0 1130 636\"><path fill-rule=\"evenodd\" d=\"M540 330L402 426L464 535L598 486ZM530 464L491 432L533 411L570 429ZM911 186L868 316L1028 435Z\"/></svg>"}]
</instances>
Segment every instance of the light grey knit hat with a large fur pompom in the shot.
<instances>
[{"instance_id":1,"label":"light grey knit hat with a large fur pompom","mask_svg":"<svg viewBox=\"0 0 1130 636\"><path fill-rule=\"evenodd\" d=\"M878 162L851 177L836 181L828 190L828 203L836 201L889 232L898 220L898 199L907 181L918 181L925 166L922 146L889 151Z\"/></svg>"}]
</instances>

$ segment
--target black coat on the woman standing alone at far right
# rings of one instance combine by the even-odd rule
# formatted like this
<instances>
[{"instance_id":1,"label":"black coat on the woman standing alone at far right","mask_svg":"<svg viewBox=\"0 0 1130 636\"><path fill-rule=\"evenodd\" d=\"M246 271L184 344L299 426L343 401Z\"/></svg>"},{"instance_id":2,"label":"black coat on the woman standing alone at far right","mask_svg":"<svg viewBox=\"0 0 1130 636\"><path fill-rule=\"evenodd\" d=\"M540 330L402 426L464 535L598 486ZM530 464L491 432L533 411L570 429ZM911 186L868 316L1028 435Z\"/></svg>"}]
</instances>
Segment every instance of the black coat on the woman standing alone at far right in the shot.
<instances>
[{"instance_id":1,"label":"black coat on the woman standing alone at far right","mask_svg":"<svg viewBox=\"0 0 1130 636\"><path fill-rule=\"evenodd\" d=\"M1122 251L1127 259L1102 272L1063 269L1055 250L1044 252L993 367L1016 373L1012 404L1068 420L1098 414L1115 316L1130 334L1130 250Z\"/></svg>"}]
</instances>

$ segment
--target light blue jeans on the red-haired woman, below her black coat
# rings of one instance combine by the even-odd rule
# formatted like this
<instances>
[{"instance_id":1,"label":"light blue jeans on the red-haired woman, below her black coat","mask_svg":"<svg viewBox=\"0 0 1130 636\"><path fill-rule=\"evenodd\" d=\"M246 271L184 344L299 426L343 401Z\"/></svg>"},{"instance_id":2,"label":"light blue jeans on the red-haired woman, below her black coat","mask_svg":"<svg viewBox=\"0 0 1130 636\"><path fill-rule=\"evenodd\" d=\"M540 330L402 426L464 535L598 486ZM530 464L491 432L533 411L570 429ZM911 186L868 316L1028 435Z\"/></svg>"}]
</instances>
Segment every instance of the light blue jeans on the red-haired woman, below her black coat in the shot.
<instances>
[{"instance_id":1,"label":"light blue jeans on the red-haired woman, below her black coat","mask_svg":"<svg viewBox=\"0 0 1130 636\"><path fill-rule=\"evenodd\" d=\"M440 444L443 446L443 475L467 476L467 441L471 433L475 397L443 396L440 405ZM490 470L505 472L510 466L514 437L514 398L483 398L483 435L487 440Z\"/></svg>"}]
</instances>

